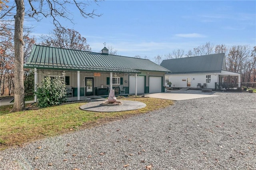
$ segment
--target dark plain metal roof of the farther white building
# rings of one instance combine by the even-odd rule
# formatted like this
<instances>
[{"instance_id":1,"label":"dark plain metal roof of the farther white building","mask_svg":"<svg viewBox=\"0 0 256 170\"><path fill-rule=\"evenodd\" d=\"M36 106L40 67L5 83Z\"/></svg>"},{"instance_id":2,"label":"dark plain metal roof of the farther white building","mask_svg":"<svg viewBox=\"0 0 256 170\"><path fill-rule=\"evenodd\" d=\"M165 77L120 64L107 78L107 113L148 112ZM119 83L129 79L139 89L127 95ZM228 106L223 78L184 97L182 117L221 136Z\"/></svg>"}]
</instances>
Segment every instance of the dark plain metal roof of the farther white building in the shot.
<instances>
[{"instance_id":1,"label":"dark plain metal roof of the farther white building","mask_svg":"<svg viewBox=\"0 0 256 170\"><path fill-rule=\"evenodd\" d=\"M160 65L171 71L168 74L220 73L226 70L224 53L166 59Z\"/></svg>"}]
</instances>

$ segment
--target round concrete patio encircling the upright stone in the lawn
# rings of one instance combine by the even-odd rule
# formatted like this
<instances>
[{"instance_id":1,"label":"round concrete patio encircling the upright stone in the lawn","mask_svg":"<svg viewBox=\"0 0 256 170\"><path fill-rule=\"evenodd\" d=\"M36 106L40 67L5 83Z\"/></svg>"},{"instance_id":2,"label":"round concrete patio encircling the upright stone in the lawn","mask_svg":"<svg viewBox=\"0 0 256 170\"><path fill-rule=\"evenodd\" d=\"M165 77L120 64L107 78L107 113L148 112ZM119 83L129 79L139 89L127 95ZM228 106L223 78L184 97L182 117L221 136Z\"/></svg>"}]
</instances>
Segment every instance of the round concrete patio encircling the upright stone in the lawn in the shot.
<instances>
[{"instance_id":1,"label":"round concrete patio encircling the upright stone in the lawn","mask_svg":"<svg viewBox=\"0 0 256 170\"><path fill-rule=\"evenodd\" d=\"M121 112L121 111L132 111L146 107L145 103L139 101L128 101L122 100L122 105L117 106L103 106L101 103L107 100L102 101L92 101L86 105L80 106L80 109L85 111L94 111L94 112Z\"/></svg>"}]
</instances>

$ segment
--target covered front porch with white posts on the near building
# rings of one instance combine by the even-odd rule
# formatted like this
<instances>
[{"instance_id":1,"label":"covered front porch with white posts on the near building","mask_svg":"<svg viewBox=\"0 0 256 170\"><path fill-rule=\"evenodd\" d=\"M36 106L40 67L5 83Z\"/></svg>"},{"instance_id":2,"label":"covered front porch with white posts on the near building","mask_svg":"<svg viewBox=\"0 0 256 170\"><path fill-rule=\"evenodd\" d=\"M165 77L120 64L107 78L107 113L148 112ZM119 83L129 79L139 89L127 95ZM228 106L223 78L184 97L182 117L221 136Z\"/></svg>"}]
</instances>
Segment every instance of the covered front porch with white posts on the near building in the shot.
<instances>
[{"instance_id":1,"label":"covered front porch with white posts on the near building","mask_svg":"<svg viewBox=\"0 0 256 170\"><path fill-rule=\"evenodd\" d=\"M137 95L137 77L140 71L129 69L127 72L99 72L99 71L74 71L60 69L34 68L34 83L40 85L46 76L61 77L67 85L68 101L80 101L94 96L108 96L110 89L115 90L115 95L129 95L129 76L135 77L135 95ZM36 86L35 89L36 91ZM95 97L94 97L95 98ZM37 101L35 96L34 101Z\"/></svg>"}]
</instances>

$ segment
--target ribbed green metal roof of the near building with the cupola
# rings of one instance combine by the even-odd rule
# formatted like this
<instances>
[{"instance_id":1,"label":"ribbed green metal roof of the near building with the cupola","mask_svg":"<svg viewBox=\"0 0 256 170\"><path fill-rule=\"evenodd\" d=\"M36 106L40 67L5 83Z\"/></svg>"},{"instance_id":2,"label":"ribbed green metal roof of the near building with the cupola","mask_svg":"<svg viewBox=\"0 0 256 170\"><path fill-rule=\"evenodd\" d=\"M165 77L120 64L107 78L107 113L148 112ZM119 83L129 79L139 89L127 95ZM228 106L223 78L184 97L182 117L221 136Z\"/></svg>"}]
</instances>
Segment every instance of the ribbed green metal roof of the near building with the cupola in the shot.
<instances>
[{"instance_id":1,"label":"ribbed green metal roof of the near building with the cupola","mask_svg":"<svg viewBox=\"0 0 256 170\"><path fill-rule=\"evenodd\" d=\"M168 72L148 59L34 45L25 68L140 73Z\"/></svg>"}]
</instances>

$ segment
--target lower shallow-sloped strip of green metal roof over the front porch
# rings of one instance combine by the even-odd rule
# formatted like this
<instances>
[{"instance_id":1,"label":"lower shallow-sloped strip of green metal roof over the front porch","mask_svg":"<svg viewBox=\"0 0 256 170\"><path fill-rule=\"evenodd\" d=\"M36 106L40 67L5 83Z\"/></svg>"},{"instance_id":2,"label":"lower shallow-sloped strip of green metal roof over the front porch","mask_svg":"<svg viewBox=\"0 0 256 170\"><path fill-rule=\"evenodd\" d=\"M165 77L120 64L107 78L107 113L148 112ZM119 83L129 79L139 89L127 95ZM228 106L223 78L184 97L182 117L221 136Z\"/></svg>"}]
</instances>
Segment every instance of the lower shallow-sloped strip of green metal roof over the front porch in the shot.
<instances>
[{"instance_id":1,"label":"lower shallow-sloped strip of green metal roof over the front porch","mask_svg":"<svg viewBox=\"0 0 256 170\"><path fill-rule=\"evenodd\" d=\"M119 73L141 73L135 69L127 68L112 68L112 67L95 67L88 65L39 65L27 63L24 64L24 68L38 68L38 69L62 69L62 70L79 70L79 71L104 71L104 72L119 72Z\"/></svg>"}]
</instances>

